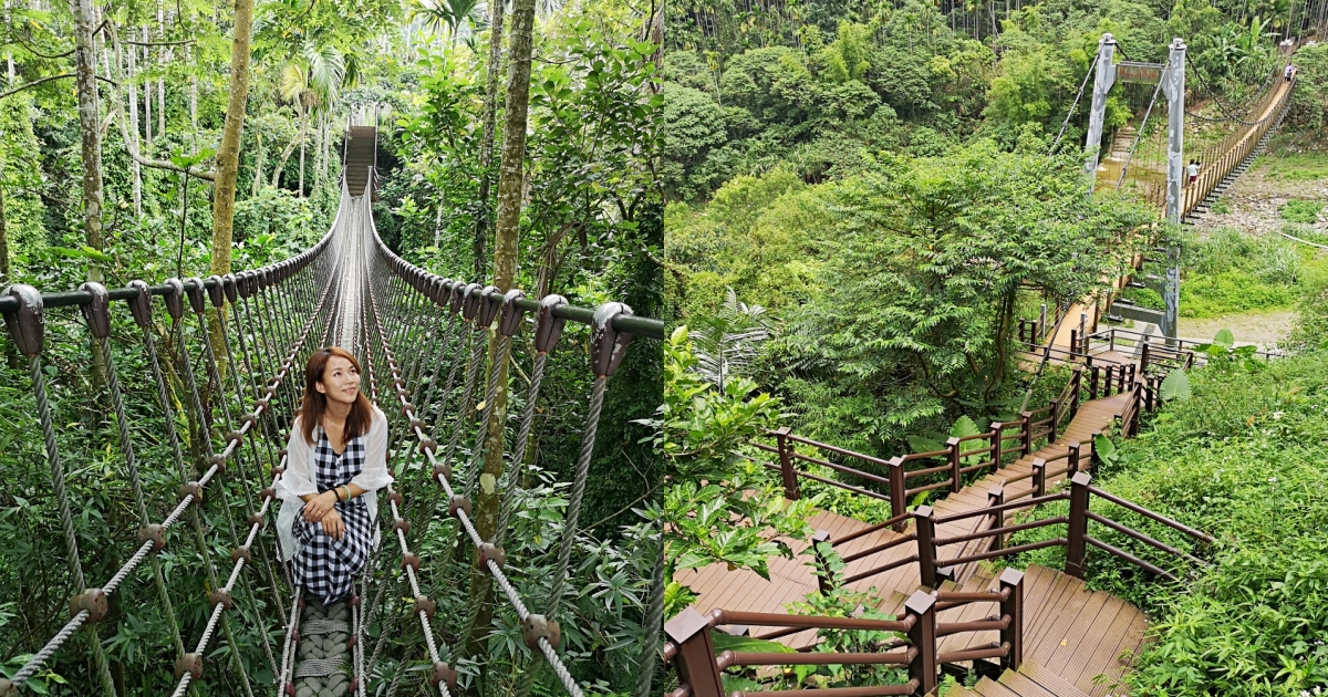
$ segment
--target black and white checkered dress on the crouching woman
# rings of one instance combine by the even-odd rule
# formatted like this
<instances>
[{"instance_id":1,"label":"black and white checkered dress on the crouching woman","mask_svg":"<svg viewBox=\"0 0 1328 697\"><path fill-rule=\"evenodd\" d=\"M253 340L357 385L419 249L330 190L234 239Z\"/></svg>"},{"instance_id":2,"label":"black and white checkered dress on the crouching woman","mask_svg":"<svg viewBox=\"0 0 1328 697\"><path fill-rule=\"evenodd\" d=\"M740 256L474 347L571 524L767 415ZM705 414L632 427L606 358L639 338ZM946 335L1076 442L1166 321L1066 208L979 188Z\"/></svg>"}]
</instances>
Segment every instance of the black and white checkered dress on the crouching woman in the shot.
<instances>
[{"instance_id":1,"label":"black and white checkered dress on the crouching woman","mask_svg":"<svg viewBox=\"0 0 1328 697\"><path fill-rule=\"evenodd\" d=\"M315 471L311 473L311 479L321 494L349 483L360 474L364 469L365 435L352 438L339 455L328 443L323 426L315 430L319 442L313 446ZM323 532L321 523L305 522L303 506L291 526L295 539L301 544L300 551L291 558L295 583L303 585L305 593L321 597L324 603L333 603L351 595L355 576L364 568L373 550L373 522L369 519L364 497L337 502L333 506L345 523L345 535L340 540L333 540Z\"/></svg>"}]
</instances>

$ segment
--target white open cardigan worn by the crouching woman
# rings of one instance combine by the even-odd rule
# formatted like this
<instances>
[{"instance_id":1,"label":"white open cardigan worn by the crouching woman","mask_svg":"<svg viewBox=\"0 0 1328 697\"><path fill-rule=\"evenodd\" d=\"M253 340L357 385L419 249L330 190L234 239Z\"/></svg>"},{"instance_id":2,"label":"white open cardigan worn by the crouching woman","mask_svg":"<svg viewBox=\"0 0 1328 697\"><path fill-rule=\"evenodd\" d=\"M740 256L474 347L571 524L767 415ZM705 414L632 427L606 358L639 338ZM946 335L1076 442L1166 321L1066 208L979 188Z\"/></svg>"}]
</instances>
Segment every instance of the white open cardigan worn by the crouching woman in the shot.
<instances>
[{"instance_id":1,"label":"white open cardigan worn by the crouching woman","mask_svg":"<svg viewBox=\"0 0 1328 697\"><path fill-rule=\"evenodd\" d=\"M319 434L317 426L313 429L315 438ZM317 442L315 439L315 442ZM282 543L280 559L290 560L300 551L300 543L295 539L291 527L295 524L295 515L300 512L304 502L300 497L317 494L309 471L313 467L313 446L304 442L300 429L300 418L295 418L291 425L291 439L286 443L286 473L276 483L276 495L282 499L282 510L276 514L276 536ZM373 418L369 424L369 433L365 434L364 469L351 479L351 483L364 490L361 494L369 508L369 520L378 519L377 491L392 483L388 474L388 417L377 406L373 408ZM373 526L373 546L378 546L378 526Z\"/></svg>"}]
</instances>

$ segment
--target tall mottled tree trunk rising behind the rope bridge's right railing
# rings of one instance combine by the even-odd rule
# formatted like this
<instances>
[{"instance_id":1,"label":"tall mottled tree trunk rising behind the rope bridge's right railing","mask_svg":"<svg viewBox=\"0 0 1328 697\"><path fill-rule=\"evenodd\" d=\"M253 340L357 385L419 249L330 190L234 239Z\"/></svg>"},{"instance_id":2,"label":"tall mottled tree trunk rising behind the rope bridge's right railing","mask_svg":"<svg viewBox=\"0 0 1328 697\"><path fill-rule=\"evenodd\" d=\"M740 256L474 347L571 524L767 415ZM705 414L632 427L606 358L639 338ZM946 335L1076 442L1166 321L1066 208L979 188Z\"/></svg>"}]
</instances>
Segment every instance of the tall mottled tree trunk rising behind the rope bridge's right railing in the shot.
<instances>
[{"instance_id":1,"label":"tall mottled tree trunk rising behind the rope bridge's right railing","mask_svg":"<svg viewBox=\"0 0 1328 697\"><path fill-rule=\"evenodd\" d=\"M495 3L497 4L497 3ZM493 284L506 292L517 276L517 235L521 227L521 199L525 185L526 119L530 102L531 27L535 21L535 0L515 0L511 11L511 48L507 69L507 104L503 113L502 166L498 177L498 220L494 230ZM507 422L507 361L499 358L498 337L489 341L489 366L498 370L498 393L489 409L485 437L485 467L481 485L490 479L489 489L481 486L475 494L475 527L479 536L491 540L498 530L498 503L502 493L503 425ZM470 601L478 604L479 615L467 637L470 656L483 652L483 639L493 621L491 585L486 572L474 570L470 575Z\"/></svg>"}]
</instances>

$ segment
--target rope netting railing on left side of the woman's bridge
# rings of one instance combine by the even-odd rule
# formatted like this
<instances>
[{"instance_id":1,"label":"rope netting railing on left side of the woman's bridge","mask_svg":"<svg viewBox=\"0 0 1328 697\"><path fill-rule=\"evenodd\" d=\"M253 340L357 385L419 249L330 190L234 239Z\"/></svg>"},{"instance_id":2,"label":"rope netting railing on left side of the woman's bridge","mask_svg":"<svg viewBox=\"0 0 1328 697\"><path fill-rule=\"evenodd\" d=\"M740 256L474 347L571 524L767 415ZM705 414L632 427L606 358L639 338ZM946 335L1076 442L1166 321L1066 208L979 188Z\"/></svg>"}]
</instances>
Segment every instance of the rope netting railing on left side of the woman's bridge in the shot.
<instances>
[{"instance_id":1,"label":"rope netting railing on left side of the woman's bridge","mask_svg":"<svg viewBox=\"0 0 1328 697\"><path fill-rule=\"evenodd\" d=\"M42 445L50 467L52 487L64 532L66 562L76 592L69 601L70 619L11 678L0 680L0 694L15 694L28 678L36 674L41 664L60 651L80 628L86 633L102 692L116 694L97 627L108 617L110 596L134 576L145 559L149 560L149 567L153 570L151 578L158 601L167 617L171 639L179 655L174 665L175 674L181 681L177 694L182 694L189 681L197 680L202 673L202 655L218 625L220 625L227 641L234 645L234 633L223 613L234 604L232 591L236 583L243 583L242 597L248 605L240 612L247 613L251 621L258 621L256 591L248 578L242 576L246 563L260 568L264 591L271 591L274 596L280 593L278 589L279 578L268 550L259 546L256 555L251 552L271 497L264 498L260 507L255 510L248 481L250 478L262 481L264 469L280 471L271 443L267 442L266 447L260 447L256 442L258 433L276 431L276 424L271 414L276 404L280 404L286 410L295 405L295 393L291 390L288 380L292 372L292 357L300 348L303 336L308 335L312 323L319 316L317 308L327 296L327 288L320 292L315 279L323 273L325 267L324 251L329 242L331 234L308 251L283 263L226 277L170 279L154 287L149 287L143 281L133 281L127 288L116 291L108 291L97 283L85 283L76 292L48 295L40 293L31 285L11 285L5 289L4 297L0 299L0 311L4 313L15 347L27 357L31 389L37 406L37 421L42 431ZM162 299L169 324L159 324L154 316L154 297ZM116 303L113 304L113 301ZM155 406L162 417L162 430L170 446L171 462L179 477L178 501L170 507L169 514L159 518L159 522L153 522L151 511L163 508L169 502L159 501L159 497L158 501L154 501L145 491L130 437L130 420L126 416L121 378L116 369L114 354L117 349L124 353L130 349L124 344L133 344L130 340L112 341L112 337L124 336L112 332L113 325L124 323L124 317L120 315L125 313L114 312L121 301L126 305L133 325L138 328L137 344L150 366L151 388L154 388L151 392L155 392ZM191 313L186 312L186 304L193 311ZM214 316L218 320L220 347L218 347L208 327L208 304L215 311ZM227 305L232 323L226 321L224 308ZM44 349L48 348L45 328L52 320L52 315L57 315L60 308L74 307L82 315L92 345L90 353L94 360L100 361L100 368L106 378L102 392L109 402L106 406L114 414L120 454L133 489L134 507L141 523L135 534L138 547L118 571L100 587L89 585L82 572L84 554L78 548L78 535L72 512L74 502L70 501L69 487L65 482L61 447L56 437L54 408L48 398L46 376L41 360ZM190 323L189 315L193 315L193 323ZM278 316L293 317L297 315L309 317L309 323L305 324L299 339L295 336L293 327L287 323L275 323ZM186 332L189 324L194 325L193 332ZM276 329L270 329L270 327ZM235 343L240 347L242 362L235 358L231 335L235 335ZM254 337L254 341L247 341L246 336ZM157 348L158 337L170 345L167 354L170 362L165 372ZM262 341L258 337L262 337ZM191 341L195 344L194 347L190 347ZM276 343L291 347L286 362L279 369L276 368L279 362ZM195 350L203 357L207 366L203 373L205 386L202 390L191 360L191 353ZM226 385L223 373L230 377L234 393ZM174 380L167 381L167 374L173 376ZM264 386L263 392L258 389L259 381ZM191 425L187 442L190 453L197 453L194 458L186 458L186 449L182 447L179 434L175 430L177 405L182 406L185 410L182 416L186 416L186 421ZM240 424L238 429L234 427L235 422ZM223 434L220 439L224 445L219 449L215 447L214 442L216 433ZM242 447L246 441L248 442L247 457ZM194 462L186 463L186 459L194 459ZM232 482L224 479L227 470L235 475ZM191 471L201 471L201 475L194 478ZM238 486L227 486L228 483ZM224 531L205 530L201 507L208 485L214 485L211 487L215 490L214 495L220 499L218 508L224 518ZM248 532L243 543L234 520L235 508L244 511L248 523ZM207 593L211 613L193 652L185 651L183 632L167 593L158 559L166 548L170 528L186 514L190 518L197 552L203 559L207 588L211 589ZM215 539L210 539L208 535L230 538L232 568L226 583L218 581L212 560ZM266 633L263 636L266 657L270 665L275 665ZM231 652L230 664L239 682L244 685L246 694L251 694L250 680L238 652Z\"/></svg>"}]
</instances>

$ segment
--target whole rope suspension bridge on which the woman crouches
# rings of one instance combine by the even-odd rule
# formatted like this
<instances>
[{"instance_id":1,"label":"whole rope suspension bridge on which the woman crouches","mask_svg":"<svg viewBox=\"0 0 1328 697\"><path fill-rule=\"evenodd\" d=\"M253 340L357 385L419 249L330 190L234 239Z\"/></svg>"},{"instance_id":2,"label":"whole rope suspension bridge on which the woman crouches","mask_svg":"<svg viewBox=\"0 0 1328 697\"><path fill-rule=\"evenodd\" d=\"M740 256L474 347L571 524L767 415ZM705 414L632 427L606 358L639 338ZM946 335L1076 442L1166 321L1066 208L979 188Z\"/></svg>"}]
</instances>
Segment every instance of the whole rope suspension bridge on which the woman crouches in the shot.
<instances>
[{"instance_id":1,"label":"whole rope suspension bridge on which the woman crouches","mask_svg":"<svg viewBox=\"0 0 1328 697\"><path fill-rule=\"evenodd\" d=\"M458 661L466 660L465 649L448 647L438 623L442 617L461 617L462 629L453 636L465 641L477 627L483 629L482 623L494 623L497 617L490 620L482 612L483 601L440 615L448 608L440 608L426 595L422 579L426 572L458 583L474 575L483 589L482 597L493 593L494 601L519 624L526 647L519 694L531 690L542 670L566 694L584 694L564 658L559 617L566 615L564 587L572 568L596 429L607 384L628 345L633 339L663 339L663 323L635 316L622 303L579 308L558 295L530 299L519 289L499 292L491 285L444 279L412 266L393 254L374 228L371 208L378 186L372 166L374 149L372 127L351 129L336 219L317 244L284 262L222 277L170 279L159 285L135 280L120 289L97 283L60 293L41 293L31 285L5 289L0 311L27 361L74 593L69 600L69 620L11 678L0 680L0 697L29 693L24 685L78 633L92 653L98 685L84 685L80 693L100 690L116 696L102 635L117 631L108 628L112 600L124 595L125 584L139 578L150 579L154 600L169 623L178 656L171 666L174 697L191 693L193 684L206 681L210 657L223 653L227 658L210 670L228 670L230 681L239 684L247 697L365 697L371 676L380 674L386 643L409 636L410 628L402 624L405 617L418 623L422 633L422 647L406 660L424 662L430 693L459 694ZM125 307L137 328L137 341L127 339L131 335L112 331ZM84 570L89 552L80 550L76 515L80 502L66 482L56 438L56 405L42 369L50 315L72 308L78 308L86 323L90 353L105 374L105 396L114 413L117 445L138 524L133 554L100 584ZM210 319L215 324L210 325ZM163 321L165 329L159 325ZM546 366L551 360L558 361L555 348L567 323L590 328L592 388L568 483L566 515L556 531L547 532L556 539L551 587L547 595L523 596L513 575L523 574L529 560L509 563L503 542L515 515ZM527 337L521 337L523 329L529 331ZM170 350L165 354L155 336L167 337ZM135 438L117 372L116 354L125 356L134 343L151 374L154 408L162 417L162 435L179 482L178 498L167 502L166 515L159 515L167 510L166 503L147 494L143 467L155 469L158 463L135 457ZM361 358L364 389L389 417L389 470L397 479L384 491L386 506L378 520L382 542L352 596L324 605L292 587L290 570L274 559L275 524L268 520L287 466L284 443L299 410L304 361L329 344ZM486 360L486 348L491 350L491 362ZM507 372L498 366L518 357L529 361L531 369L525 390L514 394L519 397L514 404L522 406L522 414L511 427L490 417L499 393L509 390L502 382ZM486 369L487 380L481 385ZM171 398L174 382L169 377L177 374L183 385L182 402ZM477 404L477 398L482 401ZM190 424L189 434L177 433L178 417ZM214 441L214 433L223 434L219 442ZM486 453L506 450L509 441L513 447L503 471L483 471ZM195 475L195 470L201 471ZM475 508L477 487L485 491L497 487L502 494L497 510ZM208 526L203 515L214 499L218 503L211 507L211 518L222 520L219 527ZM177 526L183 532L173 536ZM437 555L426 563L420 550L426 532L440 527L442 532L434 530L429 539L442 535L456 544L456 554ZM197 546L208 589L206 621L193 629L179 617L178 599L169 592L162 562L169 543L177 544L177 538L186 536ZM226 542L218 543L218 538ZM230 547L228 558L216 556L222 546ZM660 563L653 578L640 579L648 588L633 692L637 697L651 693L659 662L663 550L656 556ZM402 599L404 595L409 599ZM135 599L141 600L145 599ZM262 637L263 660L272 680L248 674L242 647L236 644L235 623L248 624ZM274 633L280 636L279 641L274 643ZM220 651L218 637L228 651ZM397 693L414 674L397 669L385 693Z\"/></svg>"}]
</instances>

